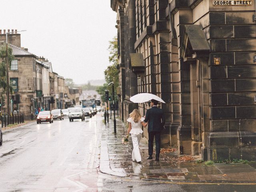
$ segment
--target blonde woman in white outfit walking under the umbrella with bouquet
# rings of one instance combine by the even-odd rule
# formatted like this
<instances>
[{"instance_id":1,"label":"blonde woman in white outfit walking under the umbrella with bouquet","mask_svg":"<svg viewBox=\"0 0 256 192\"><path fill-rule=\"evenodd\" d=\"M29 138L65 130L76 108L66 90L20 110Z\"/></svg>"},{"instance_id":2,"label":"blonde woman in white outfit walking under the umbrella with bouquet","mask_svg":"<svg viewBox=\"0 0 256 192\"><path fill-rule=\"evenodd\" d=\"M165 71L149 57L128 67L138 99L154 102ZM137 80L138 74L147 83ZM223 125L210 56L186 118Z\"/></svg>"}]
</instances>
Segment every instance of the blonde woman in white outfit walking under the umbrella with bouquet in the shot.
<instances>
[{"instance_id":1,"label":"blonde woman in white outfit walking under the umbrella with bouquet","mask_svg":"<svg viewBox=\"0 0 256 192\"><path fill-rule=\"evenodd\" d=\"M148 125L148 122L145 123L144 119L141 115L138 109L134 109L130 114L130 118L127 119L129 122L129 127L127 131L127 136L129 134L132 135L132 160L136 161L138 163L141 163L141 155L140 155L140 149L139 149L139 143L141 134L143 133L141 126L146 127Z\"/></svg>"}]
</instances>

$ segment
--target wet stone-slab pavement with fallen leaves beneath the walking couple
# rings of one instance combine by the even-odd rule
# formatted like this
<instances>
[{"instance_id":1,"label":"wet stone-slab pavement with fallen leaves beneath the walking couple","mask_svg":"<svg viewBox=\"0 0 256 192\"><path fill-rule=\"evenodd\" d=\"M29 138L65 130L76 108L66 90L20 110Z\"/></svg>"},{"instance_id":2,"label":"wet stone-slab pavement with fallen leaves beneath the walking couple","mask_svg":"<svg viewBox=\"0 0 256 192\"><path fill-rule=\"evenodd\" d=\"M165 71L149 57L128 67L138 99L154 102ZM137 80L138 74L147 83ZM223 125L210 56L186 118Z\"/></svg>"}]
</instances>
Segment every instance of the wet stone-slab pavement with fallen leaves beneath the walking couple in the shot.
<instances>
[{"instance_id":1,"label":"wet stone-slab pavement with fallen leaves beneath the walking couple","mask_svg":"<svg viewBox=\"0 0 256 192\"><path fill-rule=\"evenodd\" d=\"M102 126L102 141L107 146L101 150L100 171L145 181L256 184L256 166L252 163L206 165L196 163L199 156L179 156L175 149L160 154L160 162L154 161L154 154L153 160L146 160L148 147L145 138L140 142L142 164L132 162L131 138L126 145L121 142L126 130L127 126L120 121L117 121L117 134L113 134L112 121ZM188 158L194 160L184 160Z\"/></svg>"}]
</instances>

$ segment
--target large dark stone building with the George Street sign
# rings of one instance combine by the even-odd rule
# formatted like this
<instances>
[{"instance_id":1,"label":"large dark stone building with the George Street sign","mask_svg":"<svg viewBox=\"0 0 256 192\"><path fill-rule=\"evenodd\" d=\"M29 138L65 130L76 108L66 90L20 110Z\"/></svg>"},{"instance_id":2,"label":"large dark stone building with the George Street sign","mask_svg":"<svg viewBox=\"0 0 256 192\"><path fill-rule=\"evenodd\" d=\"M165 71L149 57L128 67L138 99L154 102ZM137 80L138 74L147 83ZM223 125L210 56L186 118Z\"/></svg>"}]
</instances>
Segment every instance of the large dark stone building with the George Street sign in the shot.
<instances>
[{"instance_id":1,"label":"large dark stone building with the George Street sign","mask_svg":"<svg viewBox=\"0 0 256 192\"><path fill-rule=\"evenodd\" d=\"M130 54L130 65L120 62L120 86L130 70L139 93L166 101L162 145L204 160L255 160L255 1L111 0L111 6L118 37L126 39L119 39L119 52ZM131 51L124 42L133 38ZM121 90L122 98L127 90ZM145 113L149 106L138 108Z\"/></svg>"}]
</instances>

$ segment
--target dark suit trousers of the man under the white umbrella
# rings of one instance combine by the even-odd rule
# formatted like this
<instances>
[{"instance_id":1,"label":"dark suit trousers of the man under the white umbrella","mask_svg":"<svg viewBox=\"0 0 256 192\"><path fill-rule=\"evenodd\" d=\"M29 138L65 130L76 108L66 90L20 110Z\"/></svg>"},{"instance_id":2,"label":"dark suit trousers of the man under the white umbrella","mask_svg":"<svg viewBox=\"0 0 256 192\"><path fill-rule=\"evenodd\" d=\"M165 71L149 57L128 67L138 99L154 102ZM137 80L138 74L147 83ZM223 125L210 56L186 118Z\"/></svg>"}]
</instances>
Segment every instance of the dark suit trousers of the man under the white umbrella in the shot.
<instances>
[{"instance_id":1,"label":"dark suit trousers of the man under the white umbrella","mask_svg":"<svg viewBox=\"0 0 256 192\"><path fill-rule=\"evenodd\" d=\"M153 141L156 142L156 158L160 156L160 131L148 132L148 155L153 155Z\"/></svg>"}]
</instances>

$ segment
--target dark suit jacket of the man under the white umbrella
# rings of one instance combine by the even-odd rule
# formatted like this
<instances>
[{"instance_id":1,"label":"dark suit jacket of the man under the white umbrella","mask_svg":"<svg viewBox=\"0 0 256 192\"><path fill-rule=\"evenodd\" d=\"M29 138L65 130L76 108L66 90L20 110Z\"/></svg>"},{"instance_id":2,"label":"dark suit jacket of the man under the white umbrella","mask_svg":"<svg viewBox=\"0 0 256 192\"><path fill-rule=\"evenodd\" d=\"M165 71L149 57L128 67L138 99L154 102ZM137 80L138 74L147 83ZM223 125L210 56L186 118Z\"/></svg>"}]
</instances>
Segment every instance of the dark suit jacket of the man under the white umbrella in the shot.
<instances>
[{"instance_id":1,"label":"dark suit jacket of the man under the white umbrella","mask_svg":"<svg viewBox=\"0 0 256 192\"><path fill-rule=\"evenodd\" d=\"M154 106L147 110L145 122L148 122L148 132L158 131L160 132L164 127L165 117L162 109Z\"/></svg>"}]
</instances>

